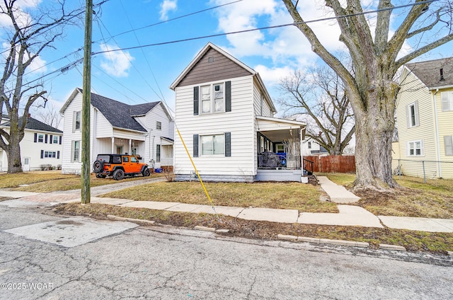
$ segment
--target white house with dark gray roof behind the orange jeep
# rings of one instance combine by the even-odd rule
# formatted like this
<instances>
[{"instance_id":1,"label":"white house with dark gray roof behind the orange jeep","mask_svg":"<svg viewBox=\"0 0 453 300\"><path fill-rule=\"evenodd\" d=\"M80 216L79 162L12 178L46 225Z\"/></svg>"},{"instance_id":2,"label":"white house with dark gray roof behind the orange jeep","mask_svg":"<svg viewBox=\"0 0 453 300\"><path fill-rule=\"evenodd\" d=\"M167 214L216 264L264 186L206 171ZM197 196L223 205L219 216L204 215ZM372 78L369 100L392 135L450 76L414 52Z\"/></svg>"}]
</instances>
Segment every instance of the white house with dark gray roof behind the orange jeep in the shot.
<instances>
[{"instance_id":1,"label":"white house with dark gray roof behind the orange jeep","mask_svg":"<svg viewBox=\"0 0 453 300\"><path fill-rule=\"evenodd\" d=\"M81 173L82 90L64 103L62 173ZM90 156L134 154L150 168L173 166L173 120L161 101L128 105L91 93ZM91 166L92 168L93 166Z\"/></svg>"}]
</instances>

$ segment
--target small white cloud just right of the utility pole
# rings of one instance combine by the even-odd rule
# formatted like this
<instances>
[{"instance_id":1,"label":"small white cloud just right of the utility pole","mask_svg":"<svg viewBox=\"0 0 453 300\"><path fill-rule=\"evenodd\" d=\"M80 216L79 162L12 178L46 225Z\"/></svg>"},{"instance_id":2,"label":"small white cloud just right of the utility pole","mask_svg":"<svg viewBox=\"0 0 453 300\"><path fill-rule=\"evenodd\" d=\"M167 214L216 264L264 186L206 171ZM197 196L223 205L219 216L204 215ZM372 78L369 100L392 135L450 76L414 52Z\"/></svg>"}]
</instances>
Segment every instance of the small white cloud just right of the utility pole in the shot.
<instances>
[{"instance_id":1,"label":"small white cloud just right of the utility pole","mask_svg":"<svg viewBox=\"0 0 453 300\"><path fill-rule=\"evenodd\" d=\"M101 68L107 73L115 77L126 77L127 71L132 66L132 57L129 52L117 50L118 47L101 44L101 50L110 51L103 53L103 60L101 61ZM117 50L111 52L111 50Z\"/></svg>"}]
</instances>

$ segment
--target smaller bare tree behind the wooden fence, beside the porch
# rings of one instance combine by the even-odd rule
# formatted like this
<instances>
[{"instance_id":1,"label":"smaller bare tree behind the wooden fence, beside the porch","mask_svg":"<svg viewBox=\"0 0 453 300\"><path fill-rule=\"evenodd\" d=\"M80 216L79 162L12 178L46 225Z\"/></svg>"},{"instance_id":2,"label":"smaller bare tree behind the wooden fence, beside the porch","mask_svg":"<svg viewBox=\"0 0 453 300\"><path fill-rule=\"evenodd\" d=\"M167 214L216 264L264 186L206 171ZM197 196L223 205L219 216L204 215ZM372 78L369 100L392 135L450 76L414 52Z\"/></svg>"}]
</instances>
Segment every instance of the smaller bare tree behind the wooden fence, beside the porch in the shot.
<instances>
[{"instance_id":1,"label":"smaller bare tree behind the wooden fence, beside the porch","mask_svg":"<svg viewBox=\"0 0 453 300\"><path fill-rule=\"evenodd\" d=\"M307 124L306 136L331 155L341 155L354 135L354 115L338 75L328 67L294 71L280 80L278 102Z\"/></svg>"}]
</instances>

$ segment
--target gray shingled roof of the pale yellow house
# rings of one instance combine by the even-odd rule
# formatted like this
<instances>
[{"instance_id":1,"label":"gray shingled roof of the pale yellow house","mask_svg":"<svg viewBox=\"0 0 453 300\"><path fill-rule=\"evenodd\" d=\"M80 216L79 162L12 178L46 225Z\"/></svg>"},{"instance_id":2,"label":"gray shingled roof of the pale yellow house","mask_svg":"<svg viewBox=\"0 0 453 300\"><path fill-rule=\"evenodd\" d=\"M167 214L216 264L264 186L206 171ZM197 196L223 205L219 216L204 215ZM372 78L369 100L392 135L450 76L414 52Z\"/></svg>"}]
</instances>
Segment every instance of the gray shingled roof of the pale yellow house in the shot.
<instances>
[{"instance_id":1,"label":"gray shingled roof of the pale yellow house","mask_svg":"<svg viewBox=\"0 0 453 300\"><path fill-rule=\"evenodd\" d=\"M414 62L405 66L428 88L453 85L453 57L428 62ZM443 71L443 80L440 76L440 69Z\"/></svg>"}]
</instances>

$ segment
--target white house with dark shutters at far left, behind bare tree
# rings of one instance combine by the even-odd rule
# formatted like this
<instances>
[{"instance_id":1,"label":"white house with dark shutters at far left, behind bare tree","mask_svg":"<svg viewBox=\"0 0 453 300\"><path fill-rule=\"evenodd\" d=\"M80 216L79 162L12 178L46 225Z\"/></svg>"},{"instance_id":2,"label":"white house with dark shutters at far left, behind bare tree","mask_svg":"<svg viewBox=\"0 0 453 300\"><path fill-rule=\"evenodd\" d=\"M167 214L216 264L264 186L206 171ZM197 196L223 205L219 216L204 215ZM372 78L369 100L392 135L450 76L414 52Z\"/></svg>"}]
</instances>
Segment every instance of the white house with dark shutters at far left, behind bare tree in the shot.
<instances>
[{"instance_id":1,"label":"white house with dark shutters at far left, behind bare tree","mask_svg":"<svg viewBox=\"0 0 453 300\"><path fill-rule=\"evenodd\" d=\"M21 122L21 118L19 118ZM9 121L0 125L1 129L9 132ZM58 168L62 164L63 132L55 127L28 117L24 136L20 143L21 163L23 171L39 171L45 165ZM8 157L0 148L0 171L8 171Z\"/></svg>"}]
</instances>

